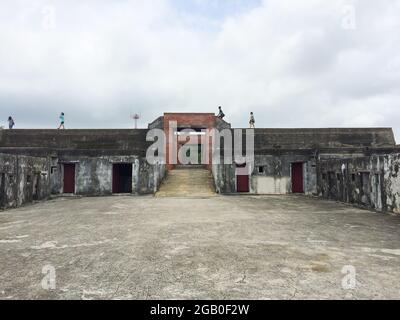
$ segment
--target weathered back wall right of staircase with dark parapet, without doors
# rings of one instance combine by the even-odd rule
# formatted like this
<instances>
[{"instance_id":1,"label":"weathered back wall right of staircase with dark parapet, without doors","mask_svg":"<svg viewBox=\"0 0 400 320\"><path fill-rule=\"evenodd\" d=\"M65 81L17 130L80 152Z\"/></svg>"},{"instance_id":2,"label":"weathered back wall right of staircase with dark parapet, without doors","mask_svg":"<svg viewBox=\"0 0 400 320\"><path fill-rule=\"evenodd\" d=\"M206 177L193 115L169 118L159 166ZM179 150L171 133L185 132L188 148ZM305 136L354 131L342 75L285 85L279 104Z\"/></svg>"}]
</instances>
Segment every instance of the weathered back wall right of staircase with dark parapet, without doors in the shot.
<instances>
[{"instance_id":1,"label":"weathered back wall right of staircase with dark parapet, without doors","mask_svg":"<svg viewBox=\"0 0 400 320\"><path fill-rule=\"evenodd\" d=\"M291 166L301 162L304 193L316 195L317 160L357 158L398 150L390 128L255 129L254 133L255 168L250 176L250 193L255 194L291 193ZM245 130L242 134L245 149ZM220 150L224 147L221 143ZM234 165L214 165L212 169L219 192L236 192Z\"/></svg>"}]
</instances>

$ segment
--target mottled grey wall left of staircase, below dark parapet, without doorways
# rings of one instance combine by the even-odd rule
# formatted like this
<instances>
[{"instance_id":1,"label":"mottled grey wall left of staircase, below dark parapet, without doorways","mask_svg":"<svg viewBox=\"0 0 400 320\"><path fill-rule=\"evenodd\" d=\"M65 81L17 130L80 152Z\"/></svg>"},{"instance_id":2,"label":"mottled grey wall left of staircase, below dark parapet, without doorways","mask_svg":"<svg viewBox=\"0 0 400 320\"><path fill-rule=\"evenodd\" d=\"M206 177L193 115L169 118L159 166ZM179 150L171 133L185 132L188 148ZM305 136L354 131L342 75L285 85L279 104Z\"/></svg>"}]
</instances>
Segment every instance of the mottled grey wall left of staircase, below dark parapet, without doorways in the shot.
<instances>
[{"instance_id":1,"label":"mottled grey wall left of staircase, below dark parapet, without doorways","mask_svg":"<svg viewBox=\"0 0 400 320\"><path fill-rule=\"evenodd\" d=\"M155 193L165 165L149 165L137 156L30 157L0 154L0 208L11 208L63 193L63 164L75 164L75 194L112 194L114 163L132 163L132 193Z\"/></svg>"}]
</instances>

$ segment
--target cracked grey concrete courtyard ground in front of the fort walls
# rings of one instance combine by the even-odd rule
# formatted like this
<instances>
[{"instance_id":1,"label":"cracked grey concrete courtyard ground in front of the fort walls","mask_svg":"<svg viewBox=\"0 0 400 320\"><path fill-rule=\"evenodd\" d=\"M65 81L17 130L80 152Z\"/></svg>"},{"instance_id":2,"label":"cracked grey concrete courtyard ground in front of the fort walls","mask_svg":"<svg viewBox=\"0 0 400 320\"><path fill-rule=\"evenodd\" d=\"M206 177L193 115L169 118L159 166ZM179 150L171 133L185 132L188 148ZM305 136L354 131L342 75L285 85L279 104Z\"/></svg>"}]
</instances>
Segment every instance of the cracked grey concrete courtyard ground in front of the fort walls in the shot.
<instances>
[{"instance_id":1,"label":"cracked grey concrete courtyard ground in front of the fort walls","mask_svg":"<svg viewBox=\"0 0 400 320\"><path fill-rule=\"evenodd\" d=\"M0 299L397 299L399 230L303 196L61 198L0 212Z\"/></svg>"}]
</instances>

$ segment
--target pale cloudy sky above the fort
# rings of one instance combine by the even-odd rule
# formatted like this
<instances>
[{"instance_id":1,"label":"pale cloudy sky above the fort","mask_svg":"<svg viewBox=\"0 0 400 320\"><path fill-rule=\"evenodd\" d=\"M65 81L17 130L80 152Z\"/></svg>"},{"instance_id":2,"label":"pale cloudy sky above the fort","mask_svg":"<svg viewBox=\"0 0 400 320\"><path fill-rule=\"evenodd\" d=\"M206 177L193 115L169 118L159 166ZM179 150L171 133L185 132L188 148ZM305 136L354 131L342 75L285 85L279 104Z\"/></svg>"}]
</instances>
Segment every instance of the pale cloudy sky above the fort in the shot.
<instances>
[{"instance_id":1,"label":"pale cloudy sky above the fort","mask_svg":"<svg viewBox=\"0 0 400 320\"><path fill-rule=\"evenodd\" d=\"M140 126L217 112L258 127L391 126L400 0L2 0L0 119Z\"/></svg>"}]
</instances>

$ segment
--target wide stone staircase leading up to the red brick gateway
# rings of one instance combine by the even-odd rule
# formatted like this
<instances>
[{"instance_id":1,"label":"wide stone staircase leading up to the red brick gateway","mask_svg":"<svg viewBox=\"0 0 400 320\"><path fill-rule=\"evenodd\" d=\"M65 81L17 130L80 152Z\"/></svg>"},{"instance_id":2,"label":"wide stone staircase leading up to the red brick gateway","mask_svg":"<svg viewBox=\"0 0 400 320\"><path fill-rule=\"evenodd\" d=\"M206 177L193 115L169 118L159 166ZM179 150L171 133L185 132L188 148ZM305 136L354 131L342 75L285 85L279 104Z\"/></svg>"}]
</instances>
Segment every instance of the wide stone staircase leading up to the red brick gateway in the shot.
<instances>
[{"instance_id":1,"label":"wide stone staircase leading up to the red brick gateway","mask_svg":"<svg viewBox=\"0 0 400 320\"><path fill-rule=\"evenodd\" d=\"M168 171L156 197L212 197L215 196L211 171L202 166L178 166Z\"/></svg>"}]
</instances>

